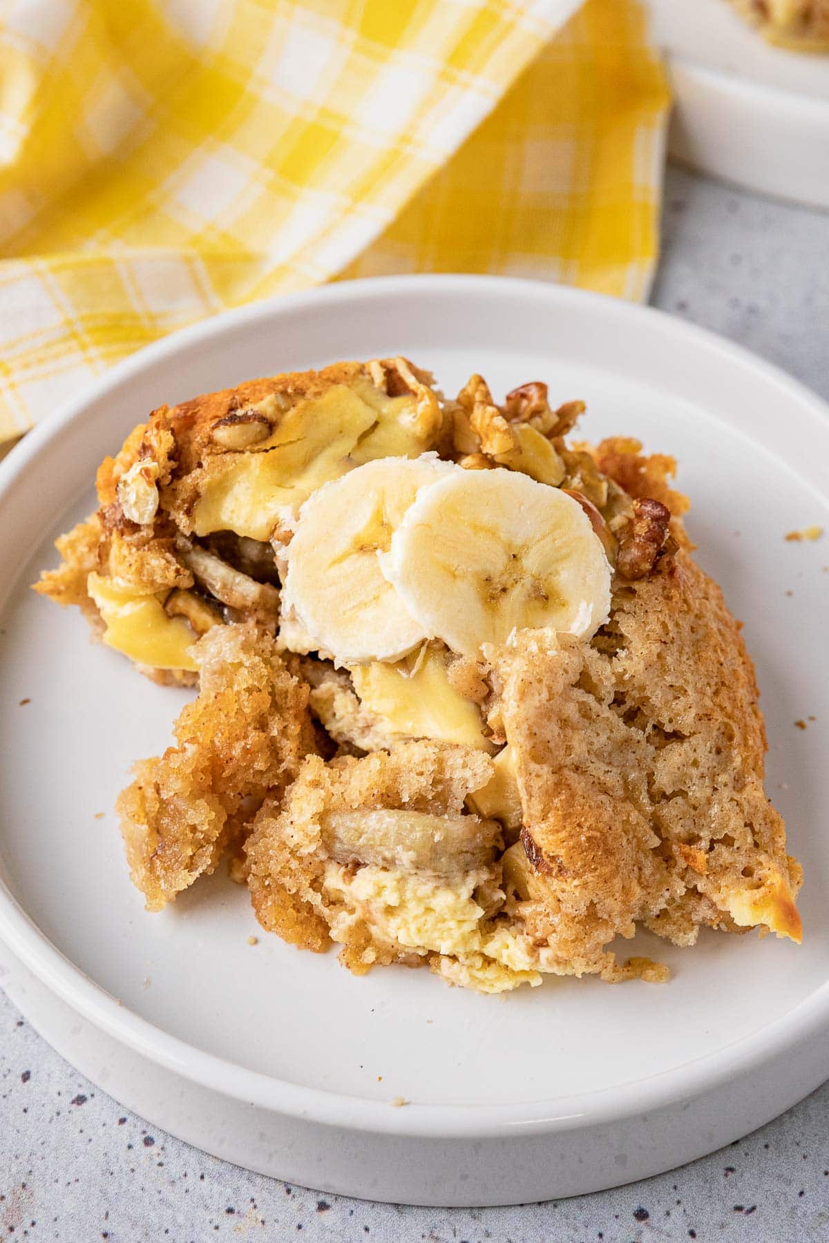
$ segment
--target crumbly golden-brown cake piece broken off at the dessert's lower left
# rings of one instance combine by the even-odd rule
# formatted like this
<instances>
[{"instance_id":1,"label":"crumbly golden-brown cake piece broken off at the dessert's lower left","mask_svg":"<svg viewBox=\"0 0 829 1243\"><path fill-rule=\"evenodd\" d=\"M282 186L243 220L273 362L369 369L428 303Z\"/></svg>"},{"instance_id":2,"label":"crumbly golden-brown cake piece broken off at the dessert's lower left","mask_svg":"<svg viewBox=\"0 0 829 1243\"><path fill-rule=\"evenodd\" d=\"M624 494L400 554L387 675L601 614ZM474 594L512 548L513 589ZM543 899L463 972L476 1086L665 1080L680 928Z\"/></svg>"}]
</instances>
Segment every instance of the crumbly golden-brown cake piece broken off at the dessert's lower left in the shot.
<instances>
[{"instance_id":1,"label":"crumbly golden-brown cake piece broken off at the dessert's lower left","mask_svg":"<svg viewBox=\"0 0 829 1243\"><path fill-rule=\"evenodd\" d=\"M275 805L314 750L308 689L252 624L216 626L194 648L201 690L176 746L135 764L118 798L131 875L160 910L215 870L266 794Z\"/></svg>"}]
</instances>

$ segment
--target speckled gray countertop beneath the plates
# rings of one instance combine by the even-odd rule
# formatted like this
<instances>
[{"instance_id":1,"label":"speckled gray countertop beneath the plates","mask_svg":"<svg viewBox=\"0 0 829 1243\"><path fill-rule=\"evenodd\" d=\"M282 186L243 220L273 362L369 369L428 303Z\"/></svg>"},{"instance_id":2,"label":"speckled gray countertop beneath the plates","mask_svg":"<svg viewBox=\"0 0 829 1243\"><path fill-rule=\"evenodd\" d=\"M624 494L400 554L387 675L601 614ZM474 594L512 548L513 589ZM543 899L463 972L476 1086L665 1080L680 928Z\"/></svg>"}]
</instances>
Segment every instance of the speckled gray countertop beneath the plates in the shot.
<instances>
[{"instance_id":1,"label":"speckled gray countertop beneath the plates","mask_svg":"<svg viewBox=\"0 0 829 1243\"><path fill-rule=\"evenodd\" d=\"M829 398L829 216L669 170L654 303ZM712 1156L518 1208L370 1204L247 1173L148 1129L0 993L0 1238L87 1243L829 1241L829 1084Z\"/></svg>"}]
</instances>

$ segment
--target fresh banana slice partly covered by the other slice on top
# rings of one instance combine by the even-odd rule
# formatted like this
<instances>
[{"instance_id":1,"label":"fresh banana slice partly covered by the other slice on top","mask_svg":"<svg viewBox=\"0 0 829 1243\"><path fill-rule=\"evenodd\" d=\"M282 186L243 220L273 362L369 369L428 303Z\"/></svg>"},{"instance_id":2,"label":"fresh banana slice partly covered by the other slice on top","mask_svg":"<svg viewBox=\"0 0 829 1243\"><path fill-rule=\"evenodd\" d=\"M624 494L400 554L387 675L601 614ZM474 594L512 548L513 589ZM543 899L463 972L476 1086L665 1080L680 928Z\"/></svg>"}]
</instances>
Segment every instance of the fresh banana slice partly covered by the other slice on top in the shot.
<instances>
[{"instance_id":1,"label":"fresh banana slice partly covered by the other slice on top","mask_svg":"<svg viewBox=\"0 0 829 1243\"><path fill-rule=\"evenodd\" d=\"M436 455L367 462L311 496L287 547L282 643L302 633L305 650L338 665L399 660L424 629L384 578L379 554L419 490L465 474Z\"/></svg>"}]
</instances>

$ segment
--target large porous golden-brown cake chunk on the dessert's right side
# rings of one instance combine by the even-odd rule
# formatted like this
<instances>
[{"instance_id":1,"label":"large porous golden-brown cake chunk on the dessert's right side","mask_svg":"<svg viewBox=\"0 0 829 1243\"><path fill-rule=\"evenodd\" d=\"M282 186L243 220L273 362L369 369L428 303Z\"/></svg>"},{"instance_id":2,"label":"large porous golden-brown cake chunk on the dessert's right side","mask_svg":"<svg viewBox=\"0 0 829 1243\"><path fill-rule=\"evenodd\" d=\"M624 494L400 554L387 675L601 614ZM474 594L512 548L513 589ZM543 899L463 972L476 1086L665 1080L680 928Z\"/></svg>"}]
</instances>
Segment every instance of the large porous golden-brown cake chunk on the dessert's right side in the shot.
<instances>
[{"instance_id":1,"label":"large porous golden-brown cake chunk on the dessert's right side","mask_svg":"<svg viewBox=\"0 0 829 1243\"><path fill-rule=\"evenodd\" d=\"M754 671L720 588L679 552L618 589L611 633L608 650L523 631L498 658L533 935L563 960L589 947L593 970L635 921L680 943L700 924L799 940Z\"/></svg>"}]
</instances>

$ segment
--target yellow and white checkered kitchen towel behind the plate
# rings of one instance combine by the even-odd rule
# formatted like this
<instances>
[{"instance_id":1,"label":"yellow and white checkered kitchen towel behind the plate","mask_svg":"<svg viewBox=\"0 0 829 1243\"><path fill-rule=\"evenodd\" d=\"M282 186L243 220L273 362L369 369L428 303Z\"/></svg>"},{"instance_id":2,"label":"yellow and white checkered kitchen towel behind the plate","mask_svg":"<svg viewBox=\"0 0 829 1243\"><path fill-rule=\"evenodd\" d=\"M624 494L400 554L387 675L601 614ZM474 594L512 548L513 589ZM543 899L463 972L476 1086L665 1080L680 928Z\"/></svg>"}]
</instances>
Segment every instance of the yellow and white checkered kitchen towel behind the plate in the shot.
<instances>
[{"instance_id":1,"label":"yellow and white checkered kitchen towel behind the plate","mask_svg":"<svg viewBox=\"0 0 829 1243\"><path fill-rule=\"evenodd\" d=\"M666 111L636 0L5 0L0 441L337 276L643 297Z\"/></svg>"}]
</instances>

